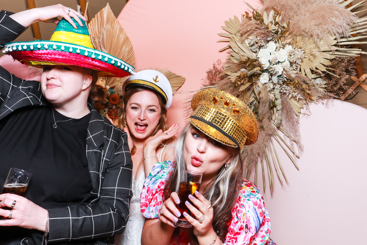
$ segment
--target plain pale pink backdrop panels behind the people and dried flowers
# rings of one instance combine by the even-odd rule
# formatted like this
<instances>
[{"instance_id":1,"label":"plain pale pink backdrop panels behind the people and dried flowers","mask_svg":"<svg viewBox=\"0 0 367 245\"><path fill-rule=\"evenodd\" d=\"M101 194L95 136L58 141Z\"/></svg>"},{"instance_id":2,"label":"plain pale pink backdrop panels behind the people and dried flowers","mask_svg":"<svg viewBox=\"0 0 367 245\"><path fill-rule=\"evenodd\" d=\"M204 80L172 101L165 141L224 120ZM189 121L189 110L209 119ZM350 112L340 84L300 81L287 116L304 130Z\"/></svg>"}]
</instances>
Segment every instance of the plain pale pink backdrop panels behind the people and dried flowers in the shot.
<instances>
[{"instance_id":1,"label":"plain pale pink backdrop panels behind the people and dried flowers","mask_svg":"<svg viewBox=\"0 0 367 245\"><path fill-rule=\"evenodd\" d=\"M216 43L222 39L216 33L224 32L220 27L224 20L240 17L246 10L243 0L130 0L118 19L134 46L136 68L170 68L186 78L179 90L185 93L201 87L213 62L225 60L226 53L218 53L225 44ZM0 65L23 79L38 79L9 56L1 57ZM169 124L183 126L183 102L188 97L174 95ZM364 244L367 110L337 100L329 108L311 105L310 109L312 115L300 120L305 151L297 162L299 171L276 145L290 184L282 187L274 172L271 196L266 180L271 237L279 245ZM258 174L261 180L260 166ZM261 181L258 187L263 190Z\"/></svg>"}]
</instances>

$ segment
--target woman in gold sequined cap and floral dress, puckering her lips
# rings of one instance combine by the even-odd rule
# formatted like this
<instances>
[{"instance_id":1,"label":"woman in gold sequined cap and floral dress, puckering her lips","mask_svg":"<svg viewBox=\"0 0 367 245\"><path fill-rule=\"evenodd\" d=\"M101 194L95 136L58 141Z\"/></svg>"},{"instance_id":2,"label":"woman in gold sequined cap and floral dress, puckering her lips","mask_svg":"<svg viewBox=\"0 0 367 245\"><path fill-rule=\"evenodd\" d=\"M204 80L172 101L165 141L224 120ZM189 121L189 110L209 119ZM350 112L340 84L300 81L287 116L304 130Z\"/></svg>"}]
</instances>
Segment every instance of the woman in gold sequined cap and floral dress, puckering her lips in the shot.
<instances>
[{"instance_id":1,"label":"woman in gold sequined cap and floral dress, puckering her lips","mask_svg":"<svg viewBox=\"0 0 367 245\"><path fill-rule=\"evenodd\" d=\"M240 149L257 140L258 124L250 109L217 89L196 93L190 123L177 140L175 162L157 163L145 180L141 212L142 244L274 244L264 198L242 178ZM180 173L203 174L200 191L189 195L180 211ZM192 228L174 225L184 217Z\"/></svg>"}]
</instances>

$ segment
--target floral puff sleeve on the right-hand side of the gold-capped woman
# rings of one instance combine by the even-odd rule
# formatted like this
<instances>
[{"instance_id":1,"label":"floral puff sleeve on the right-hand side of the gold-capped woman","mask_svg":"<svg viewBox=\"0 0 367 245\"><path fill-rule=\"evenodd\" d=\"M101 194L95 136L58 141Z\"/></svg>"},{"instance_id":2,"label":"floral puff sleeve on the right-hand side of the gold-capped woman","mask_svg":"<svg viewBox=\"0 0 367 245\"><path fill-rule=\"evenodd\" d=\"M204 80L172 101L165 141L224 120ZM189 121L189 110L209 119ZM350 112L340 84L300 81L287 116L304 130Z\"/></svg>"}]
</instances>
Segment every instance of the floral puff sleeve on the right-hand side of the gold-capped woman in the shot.
<instances>
[{"instance_id":1,"label":"floral puff sleeve on the right-hand side of the gold-capped woman","mask_svg":"<svg viewBox=\"0 0 367 245\"><path fill-rule=\"evenodd\" d=\"M269 235L270 219L264 198L254 184L244 179L224 244L275 245Z\"/></svg>"}]
</instances>

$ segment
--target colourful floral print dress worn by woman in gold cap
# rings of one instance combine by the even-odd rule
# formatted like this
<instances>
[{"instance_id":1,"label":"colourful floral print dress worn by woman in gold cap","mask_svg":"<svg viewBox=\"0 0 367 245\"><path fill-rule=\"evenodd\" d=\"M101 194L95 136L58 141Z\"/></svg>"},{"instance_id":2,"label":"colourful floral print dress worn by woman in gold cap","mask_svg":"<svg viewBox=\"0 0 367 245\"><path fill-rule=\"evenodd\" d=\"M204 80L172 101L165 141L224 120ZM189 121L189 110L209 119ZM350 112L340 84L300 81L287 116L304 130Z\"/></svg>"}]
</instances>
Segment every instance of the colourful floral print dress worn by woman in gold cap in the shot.
<instances>
[{"instance_id":1,"label":"colourful floral print dress worn by woman in gold cap","mask_svg":"<svg viewBox=\"0 0 367 245\"><path fill-rule=\"evenodd\" d=\"M158 162L146 178L141 192L141 212L149 219L157 219L163 203L164 185L173 171L170 161ZM243 179L232 220L224 244L275 245L269 238L270 219L264 198L254 184ZM189 240L180 228L179 236L173 235L171 245L188 245Z\"/></svg>"}]
</instances>

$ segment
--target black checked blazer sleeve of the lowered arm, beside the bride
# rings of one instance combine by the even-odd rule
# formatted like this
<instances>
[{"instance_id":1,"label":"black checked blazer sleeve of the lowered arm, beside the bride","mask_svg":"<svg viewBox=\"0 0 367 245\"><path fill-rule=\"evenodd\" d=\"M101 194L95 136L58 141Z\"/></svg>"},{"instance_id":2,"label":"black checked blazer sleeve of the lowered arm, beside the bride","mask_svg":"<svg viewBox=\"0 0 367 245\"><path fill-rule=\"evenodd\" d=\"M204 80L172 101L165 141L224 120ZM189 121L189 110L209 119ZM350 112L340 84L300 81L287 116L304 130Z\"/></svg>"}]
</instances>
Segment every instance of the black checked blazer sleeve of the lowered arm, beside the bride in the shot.
<instances>
[{"instance_id":1,"label":"black checked blazer sleeve of the lowered arm, beside the bride","mask_svg":"<svg viewBox=\"0 0 367 245\"><path fill-rule=\"evenodd\" d=\"M111 136L112 138L112 136ZM129 217L132 197L132 161L123 134L113 149L108 169L102 176L100 198L90 205L75 205L67 208L48 209L50 215L49 241L67 242L108 237L123 233ZM117 142L111 142L111 145ZM109 151L109 150L108 150ZM108 154L110 155L110 154Z\"/></svg>"}]
</instances>

